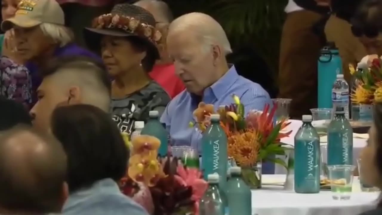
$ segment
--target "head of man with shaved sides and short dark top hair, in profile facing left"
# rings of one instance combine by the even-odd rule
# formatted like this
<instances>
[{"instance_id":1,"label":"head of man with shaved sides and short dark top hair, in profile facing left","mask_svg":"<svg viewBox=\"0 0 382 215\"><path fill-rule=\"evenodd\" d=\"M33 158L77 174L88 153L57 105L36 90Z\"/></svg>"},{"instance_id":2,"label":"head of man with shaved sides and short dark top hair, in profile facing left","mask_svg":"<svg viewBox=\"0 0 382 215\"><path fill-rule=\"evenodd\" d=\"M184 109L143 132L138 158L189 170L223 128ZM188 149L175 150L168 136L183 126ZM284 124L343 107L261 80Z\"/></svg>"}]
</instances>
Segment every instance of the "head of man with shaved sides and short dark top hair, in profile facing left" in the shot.
<instances>
[{"instance_id":1,"label":"head of man with shaved sides and short dark top hair, in profile facing left","mask_svg":"<svg viewBox=\"0 0 382 215\"><path fill-rule=\"evenodd\" d=\"M32 122L47 131L50 116L59 103L92 104L105 112L110 106L110 80L104 65L84 56L66 56L52 60L41 71L38 101L31 109Z\"/></svg>"}]
</instances>

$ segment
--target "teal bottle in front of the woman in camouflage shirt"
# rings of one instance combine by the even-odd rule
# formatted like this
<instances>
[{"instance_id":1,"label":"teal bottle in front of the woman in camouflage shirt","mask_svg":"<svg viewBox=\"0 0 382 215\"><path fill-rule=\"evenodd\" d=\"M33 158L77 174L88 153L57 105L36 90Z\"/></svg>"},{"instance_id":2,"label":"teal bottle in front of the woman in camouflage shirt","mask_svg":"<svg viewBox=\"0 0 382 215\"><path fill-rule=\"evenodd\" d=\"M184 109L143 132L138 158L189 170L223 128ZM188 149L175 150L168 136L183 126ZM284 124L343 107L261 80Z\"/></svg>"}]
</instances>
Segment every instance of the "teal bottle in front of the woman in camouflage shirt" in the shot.
<instances>
[{"instance_id":1,"label":"teal bottle in front of the woman in camouflage shirt","mask_svg":"<svg viewBox=\"0 0 382 215\"><path fill-rule=\"evenodd\" d=\"M160 140L158 154L160 156L166 156L168 148L168 132L159 121L158 111L150 111L149 117L150 119L142 129L141 134L158 138Z\"/></svg>"}]
</instances>

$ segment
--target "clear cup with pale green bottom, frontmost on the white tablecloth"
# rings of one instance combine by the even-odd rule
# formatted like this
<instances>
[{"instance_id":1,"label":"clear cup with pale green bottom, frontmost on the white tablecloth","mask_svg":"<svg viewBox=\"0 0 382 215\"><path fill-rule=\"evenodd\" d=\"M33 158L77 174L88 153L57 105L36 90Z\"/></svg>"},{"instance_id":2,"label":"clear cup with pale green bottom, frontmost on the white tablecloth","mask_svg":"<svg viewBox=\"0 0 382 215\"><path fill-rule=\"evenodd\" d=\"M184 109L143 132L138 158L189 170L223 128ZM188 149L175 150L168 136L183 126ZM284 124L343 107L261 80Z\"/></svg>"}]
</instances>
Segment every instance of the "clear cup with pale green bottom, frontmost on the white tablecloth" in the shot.
<instances>
[{"instance_id":1,"label":"clear cup with pale green bottom, frontmost on the white tablecloth","mask_svg":"<svg viewBox=\"0 0 382 215\"><path fill-rule=\"evenodd\" d=\"M349 200L353 186L353 165L330 165L329 181L334 200Z\"/></svg>"}]
</instances>

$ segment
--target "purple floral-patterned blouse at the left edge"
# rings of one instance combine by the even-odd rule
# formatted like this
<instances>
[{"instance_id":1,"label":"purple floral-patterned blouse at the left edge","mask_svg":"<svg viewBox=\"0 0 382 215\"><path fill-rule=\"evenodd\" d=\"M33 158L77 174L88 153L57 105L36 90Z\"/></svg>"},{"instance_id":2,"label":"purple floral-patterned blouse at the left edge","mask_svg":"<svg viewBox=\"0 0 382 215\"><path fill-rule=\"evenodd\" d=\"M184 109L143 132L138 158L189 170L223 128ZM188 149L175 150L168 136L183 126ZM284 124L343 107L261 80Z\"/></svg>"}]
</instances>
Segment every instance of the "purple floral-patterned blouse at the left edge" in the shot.
<instances>
[{"instance_id":1,"label":"purple floral-patterned blouse at the left edge","mask_svg":"<svg viewBox=\"0 0 382 215\"><path fill-rule=\"evenodd\" d=\"M29 71L8 57L0 57L0 95L31 108L32 81Z\"/></svg>"}]
</instances>

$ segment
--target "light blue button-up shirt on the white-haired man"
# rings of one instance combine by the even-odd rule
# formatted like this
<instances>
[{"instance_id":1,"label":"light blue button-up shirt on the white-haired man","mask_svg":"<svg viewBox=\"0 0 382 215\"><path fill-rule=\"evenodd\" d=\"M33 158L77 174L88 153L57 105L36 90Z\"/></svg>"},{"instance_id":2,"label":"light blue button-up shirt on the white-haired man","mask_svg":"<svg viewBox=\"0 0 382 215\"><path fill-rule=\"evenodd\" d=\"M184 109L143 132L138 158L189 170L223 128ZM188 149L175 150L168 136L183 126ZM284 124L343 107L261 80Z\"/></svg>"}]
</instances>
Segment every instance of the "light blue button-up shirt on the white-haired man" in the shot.
<instances>
[{"instance_id":1,"label":"light blue button-up shirt on the white-haired man","mask_svg":"<svg viewBox=\"0 0 382 215\"><path fill-rule=\"evenodd\" d=\"M253 109L263 110L265 104L272 103L267 91L238 75L235 66L231 66L225 75L204 90L201 101L213 104L217 110L221 105L233 103L233 94L239 96L246 113ZM188 145L201 151L201 132L189 127L189 122L193 121L193 111L199 104L196 97L184 90L168 103L160 121L166 124L170 132L172 145Z\"/></svg>"}]
</instances>

